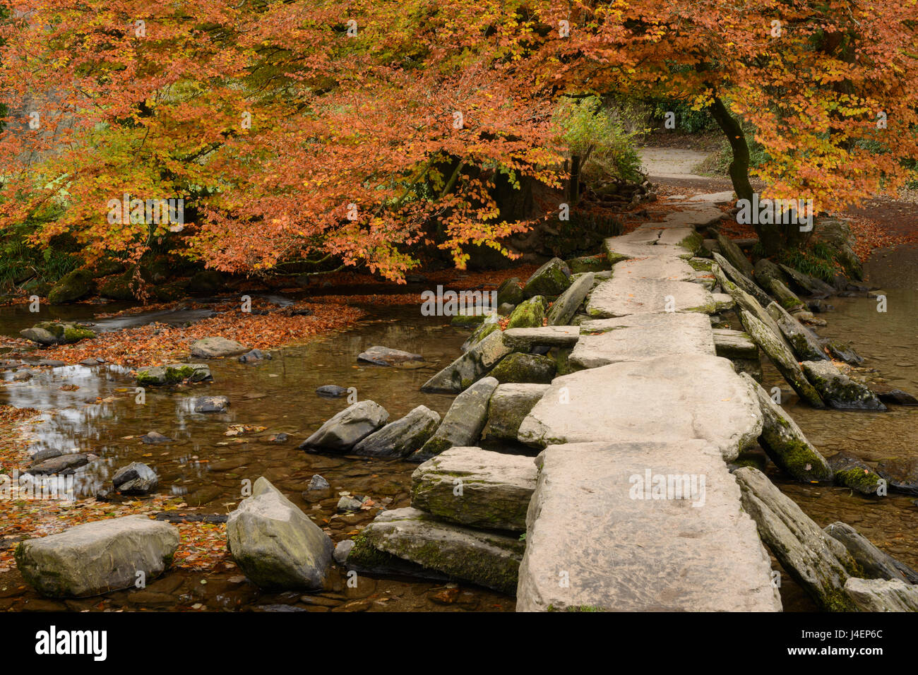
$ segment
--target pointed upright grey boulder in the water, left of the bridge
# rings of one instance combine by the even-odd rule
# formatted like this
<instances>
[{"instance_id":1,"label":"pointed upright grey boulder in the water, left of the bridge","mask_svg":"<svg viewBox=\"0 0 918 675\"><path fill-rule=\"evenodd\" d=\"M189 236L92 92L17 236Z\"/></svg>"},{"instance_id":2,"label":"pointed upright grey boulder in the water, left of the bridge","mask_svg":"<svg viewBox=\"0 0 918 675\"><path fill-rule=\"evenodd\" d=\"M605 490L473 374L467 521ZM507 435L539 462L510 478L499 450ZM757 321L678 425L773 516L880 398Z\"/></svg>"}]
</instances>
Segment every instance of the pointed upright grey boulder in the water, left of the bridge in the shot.
<instances>
[{"instance_id":1,"label":"pointed upright grey boulder in the water, left of the bridge","mask_svg":"<svg viewBox=\"0 0 918 675\"><path fill-rule=\"evenodd\" d=\"M246 577L271 591L321 588L334 550L329 535L264 477L229 514L227 548Z\"/></svg>"}]
</instances>

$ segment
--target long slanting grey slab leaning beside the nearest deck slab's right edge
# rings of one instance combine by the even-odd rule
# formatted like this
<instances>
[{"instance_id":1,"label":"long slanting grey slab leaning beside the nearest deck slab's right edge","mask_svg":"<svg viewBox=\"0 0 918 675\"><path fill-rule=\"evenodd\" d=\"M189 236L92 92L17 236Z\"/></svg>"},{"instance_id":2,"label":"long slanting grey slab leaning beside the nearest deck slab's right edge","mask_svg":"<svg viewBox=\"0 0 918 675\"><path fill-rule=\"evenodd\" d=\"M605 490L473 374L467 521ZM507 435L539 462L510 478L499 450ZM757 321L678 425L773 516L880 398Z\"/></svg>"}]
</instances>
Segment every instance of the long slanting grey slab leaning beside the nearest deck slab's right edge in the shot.
<instances>
[{"instance_id":1,"label":"long slanting grey slab leaning beside the nearest deck slab's right edge","mask_svg":"<svg viewBox=\"0 0 918 675\"><path fill-rule=\"evenodd\" d=\"M781 567L823 610L856 611L845 581L859 572L845 545L823 530L767 476L753 467L733 472L743 492L743 508Z\"/></svg>"}]
</instances>

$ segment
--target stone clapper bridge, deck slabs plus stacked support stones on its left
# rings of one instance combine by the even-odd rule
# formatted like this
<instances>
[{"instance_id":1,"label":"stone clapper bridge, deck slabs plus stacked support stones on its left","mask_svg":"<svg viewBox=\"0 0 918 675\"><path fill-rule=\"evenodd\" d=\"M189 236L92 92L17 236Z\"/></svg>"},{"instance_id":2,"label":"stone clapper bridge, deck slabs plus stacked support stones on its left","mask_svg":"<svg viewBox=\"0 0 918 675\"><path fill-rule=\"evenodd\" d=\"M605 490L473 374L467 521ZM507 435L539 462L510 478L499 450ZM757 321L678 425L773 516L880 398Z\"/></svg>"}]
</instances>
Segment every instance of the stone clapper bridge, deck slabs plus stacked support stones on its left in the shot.
<instances>
[{"instance_id":1,"label":"stone clapper bridge, deck slabs plus stacked support stones on its left","mask_svg":"<svg viewBox=\"0 0 918 675\"><path fill-rule=\"evenodd\" d=\"M485 433L491 430L491 438L501 438L500 401L529 398L528 414L504 424L503 437L543 450L533 463L464 447L476 444L480 426L465 439L444 436L451 442L431 447L451 409L414 457L432 459L412 477L412 508L381 513L358 537L348 565L372 568L366 564L373 562L366 555L372 548L453 578L515 588L518 611L780 611L767 552L727 467L763 428L756 393L731 361L715 354L709 315L733 307L733 299L712 293L711 273L688 262L701 244L696 228L722 219L714 201L729 198L693 197L662 222L606 240L611 272L580 275L570 285L582 288L559 310L566 318L557 321L550 311L546 327L538 327L540 319L487 339L479 334L474 348L432 377L425 390L463 392L453 408L475 396L488 408L490 399ZM553 310L570 299L558 298ZM581 302L589 320L557 325L569 323ZM572 369L580 369L542 385L498 387L495 377L485 377L511 352L544 354L549 347L565 348ZM464 497L454 497L456 476L468 478ZM669 489L664 499L661 479L663 491ZM648 480L657 489L644 485ZM487 497L475 497L476 484L486 483ZM519 502L521 494L531 495L528 511L523 500L503 522L470 506L476 499ZM522 542L513 546L516 535L452 523L525 529L525 550ZM420 555L418 539L436 556ZM466 568L472 563L443 563L445 557L499 560L507 551L515 558L512 573L521 562L518 577L503 582Z\"/></svg>"}]
</instances>

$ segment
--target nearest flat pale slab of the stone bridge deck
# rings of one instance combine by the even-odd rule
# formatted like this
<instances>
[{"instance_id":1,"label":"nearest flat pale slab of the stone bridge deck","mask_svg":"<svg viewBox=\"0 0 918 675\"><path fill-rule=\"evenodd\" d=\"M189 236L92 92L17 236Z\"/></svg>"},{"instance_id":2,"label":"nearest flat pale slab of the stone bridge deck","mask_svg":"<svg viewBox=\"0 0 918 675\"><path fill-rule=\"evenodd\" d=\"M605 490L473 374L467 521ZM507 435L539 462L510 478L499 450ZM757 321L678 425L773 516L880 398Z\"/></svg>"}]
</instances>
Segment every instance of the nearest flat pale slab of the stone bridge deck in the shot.
<instances>
[{"instance_id":1,"label":"nearest flat pale slab of the stone bridge deck","mask_svg":"<svg viewBox=\"0 0 918 675\"><path fill-rule=\"evenodd\" d=\"M517 611L780 611L767 553L717 448L578 443L551 445L539 460Z\"/></svg>"}]
</instances>

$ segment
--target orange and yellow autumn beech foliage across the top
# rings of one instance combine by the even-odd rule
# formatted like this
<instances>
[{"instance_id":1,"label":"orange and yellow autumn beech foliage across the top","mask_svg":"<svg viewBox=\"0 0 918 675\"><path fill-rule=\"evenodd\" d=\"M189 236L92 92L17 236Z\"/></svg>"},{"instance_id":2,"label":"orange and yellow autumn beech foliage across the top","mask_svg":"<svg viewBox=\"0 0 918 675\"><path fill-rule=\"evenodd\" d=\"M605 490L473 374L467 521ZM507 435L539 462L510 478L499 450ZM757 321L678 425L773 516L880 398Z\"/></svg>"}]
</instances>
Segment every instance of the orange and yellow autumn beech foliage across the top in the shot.
<instances>
[{"instance_id":1,"label":"orange and yellow autumn beech foliage across the top","mask_svg":"<svg viewBox=\"0 0 918 675\"><path fill-rule=\"evenodd\" d=\"M154 242L233 272L365 264L423 243L464 264L531 221L498 183L561 185L561 96L664 95L711 111L751 193L843 208L918 151L915 0L55 0L0 28L0 227L50 208L87 261ZM28 127L37 113L38 129ZM185 228L109 222L112 198L185 199ZM768 253L794 245L756 226Z\"/></svg>"}]
</instances>

